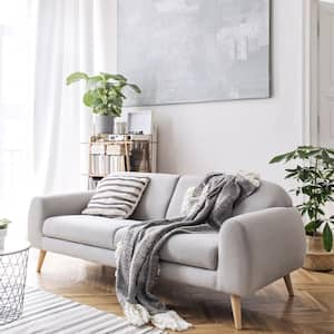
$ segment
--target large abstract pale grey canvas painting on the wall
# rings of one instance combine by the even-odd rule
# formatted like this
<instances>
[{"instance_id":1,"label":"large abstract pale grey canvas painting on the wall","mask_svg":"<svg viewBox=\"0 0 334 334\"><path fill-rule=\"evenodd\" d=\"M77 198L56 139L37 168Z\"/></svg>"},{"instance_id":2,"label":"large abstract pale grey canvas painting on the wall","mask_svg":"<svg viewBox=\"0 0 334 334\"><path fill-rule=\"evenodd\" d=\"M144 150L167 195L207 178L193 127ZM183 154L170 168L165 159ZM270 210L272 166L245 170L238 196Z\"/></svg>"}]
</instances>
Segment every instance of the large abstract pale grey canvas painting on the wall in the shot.
<instances>
[{"instance_id":1,"label":"large abstract pale grey canvas painting on the wall","mask_svg":"<svg viewBox=\"0 0 334 334\"><path fill-rule=\"evenodd\" d=\"M128 105L267 98L269 0L119 0Z\"/></svg>"}]
</instances>

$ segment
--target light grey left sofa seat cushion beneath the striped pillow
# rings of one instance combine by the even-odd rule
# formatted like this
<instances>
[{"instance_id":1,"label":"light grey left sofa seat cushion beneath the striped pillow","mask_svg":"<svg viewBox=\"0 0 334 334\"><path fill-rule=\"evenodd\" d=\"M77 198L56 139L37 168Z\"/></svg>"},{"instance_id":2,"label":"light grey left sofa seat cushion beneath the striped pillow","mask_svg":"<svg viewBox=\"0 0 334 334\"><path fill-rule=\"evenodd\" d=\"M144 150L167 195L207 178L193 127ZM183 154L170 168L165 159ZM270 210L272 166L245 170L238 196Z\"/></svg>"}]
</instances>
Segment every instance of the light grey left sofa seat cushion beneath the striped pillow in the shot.
<instances>
[{"instance_id":1,"label":"light grey left sofa seat cushion beneath the striped pillow","mask_svg":"<svg viewBox=\"0 0 334 334\"><path fill-rule=\"evenodd\" d=\"M45 220L42 232L50 238L115 249L112 242L116 232L136 223L140 222L89 215L56 216Z\"/></svg>"}]
</instances>

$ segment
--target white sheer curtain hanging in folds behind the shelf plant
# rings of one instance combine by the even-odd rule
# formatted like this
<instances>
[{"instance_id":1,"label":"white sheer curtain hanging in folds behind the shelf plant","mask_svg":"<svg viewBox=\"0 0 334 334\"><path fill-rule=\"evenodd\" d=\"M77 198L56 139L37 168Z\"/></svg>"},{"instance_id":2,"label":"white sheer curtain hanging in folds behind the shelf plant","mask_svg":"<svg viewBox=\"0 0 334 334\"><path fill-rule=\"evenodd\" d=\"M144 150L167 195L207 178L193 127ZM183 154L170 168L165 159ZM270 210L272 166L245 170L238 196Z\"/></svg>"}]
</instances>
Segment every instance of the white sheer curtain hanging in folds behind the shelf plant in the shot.
<instances>
[{"instance_id":1,"label":"white sheer curtain hanging in folds behind the shelf plant","mask_svg":"<svg viewBox=\"0 0 334 334\"><path fill-rule=\"evenodd\" d=\"M112 2L38 2L33 170L39 193L80 186L80 141L88 139L90 115L82 110L79 87L67 87L65 79L73 71L92 73L112 67L112 59L106 57Z\"/></svg>"}]
</instances>

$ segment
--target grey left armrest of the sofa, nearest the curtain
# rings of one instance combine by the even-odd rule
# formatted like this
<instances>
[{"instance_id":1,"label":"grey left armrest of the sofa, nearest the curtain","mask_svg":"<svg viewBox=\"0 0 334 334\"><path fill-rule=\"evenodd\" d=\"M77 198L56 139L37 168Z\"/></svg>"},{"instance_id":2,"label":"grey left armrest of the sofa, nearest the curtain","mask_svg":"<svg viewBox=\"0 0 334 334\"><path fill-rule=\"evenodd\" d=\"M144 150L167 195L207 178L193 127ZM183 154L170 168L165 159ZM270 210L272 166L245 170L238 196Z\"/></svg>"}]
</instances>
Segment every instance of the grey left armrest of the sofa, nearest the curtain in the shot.
<instances>
[{"instance_id":1,"label":"grey left armrest of the sofa, nearest the curtain","mask_svg":"<svg viewBox=\"0 0 334 334\"><path fill-rule=\"evenodd\" d=\"M80 215L95 191L35 197L28 215L28 239L33 247L42 249L42 227L47 218Z\"/></svg>"}]
</instances>

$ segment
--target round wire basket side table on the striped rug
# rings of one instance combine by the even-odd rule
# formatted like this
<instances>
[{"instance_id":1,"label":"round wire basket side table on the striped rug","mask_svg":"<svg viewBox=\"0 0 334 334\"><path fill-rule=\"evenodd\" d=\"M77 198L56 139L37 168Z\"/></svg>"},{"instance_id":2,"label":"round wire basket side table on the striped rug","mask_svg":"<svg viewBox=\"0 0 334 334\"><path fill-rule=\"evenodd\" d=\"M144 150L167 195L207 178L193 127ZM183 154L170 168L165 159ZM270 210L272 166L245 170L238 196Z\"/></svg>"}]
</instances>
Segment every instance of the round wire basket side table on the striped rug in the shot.
<instances>
[{"instance_id":1,"label":"round wire basket side table on the striped rug","mask_svg":"<svg viewBox=\"0 0 334 334\"><path fill-rule=\"evenodd\" d=\"M8 238L0 249L0 332L22 314L29 248L23 239Z\"/></svg>"}]
</instances>

